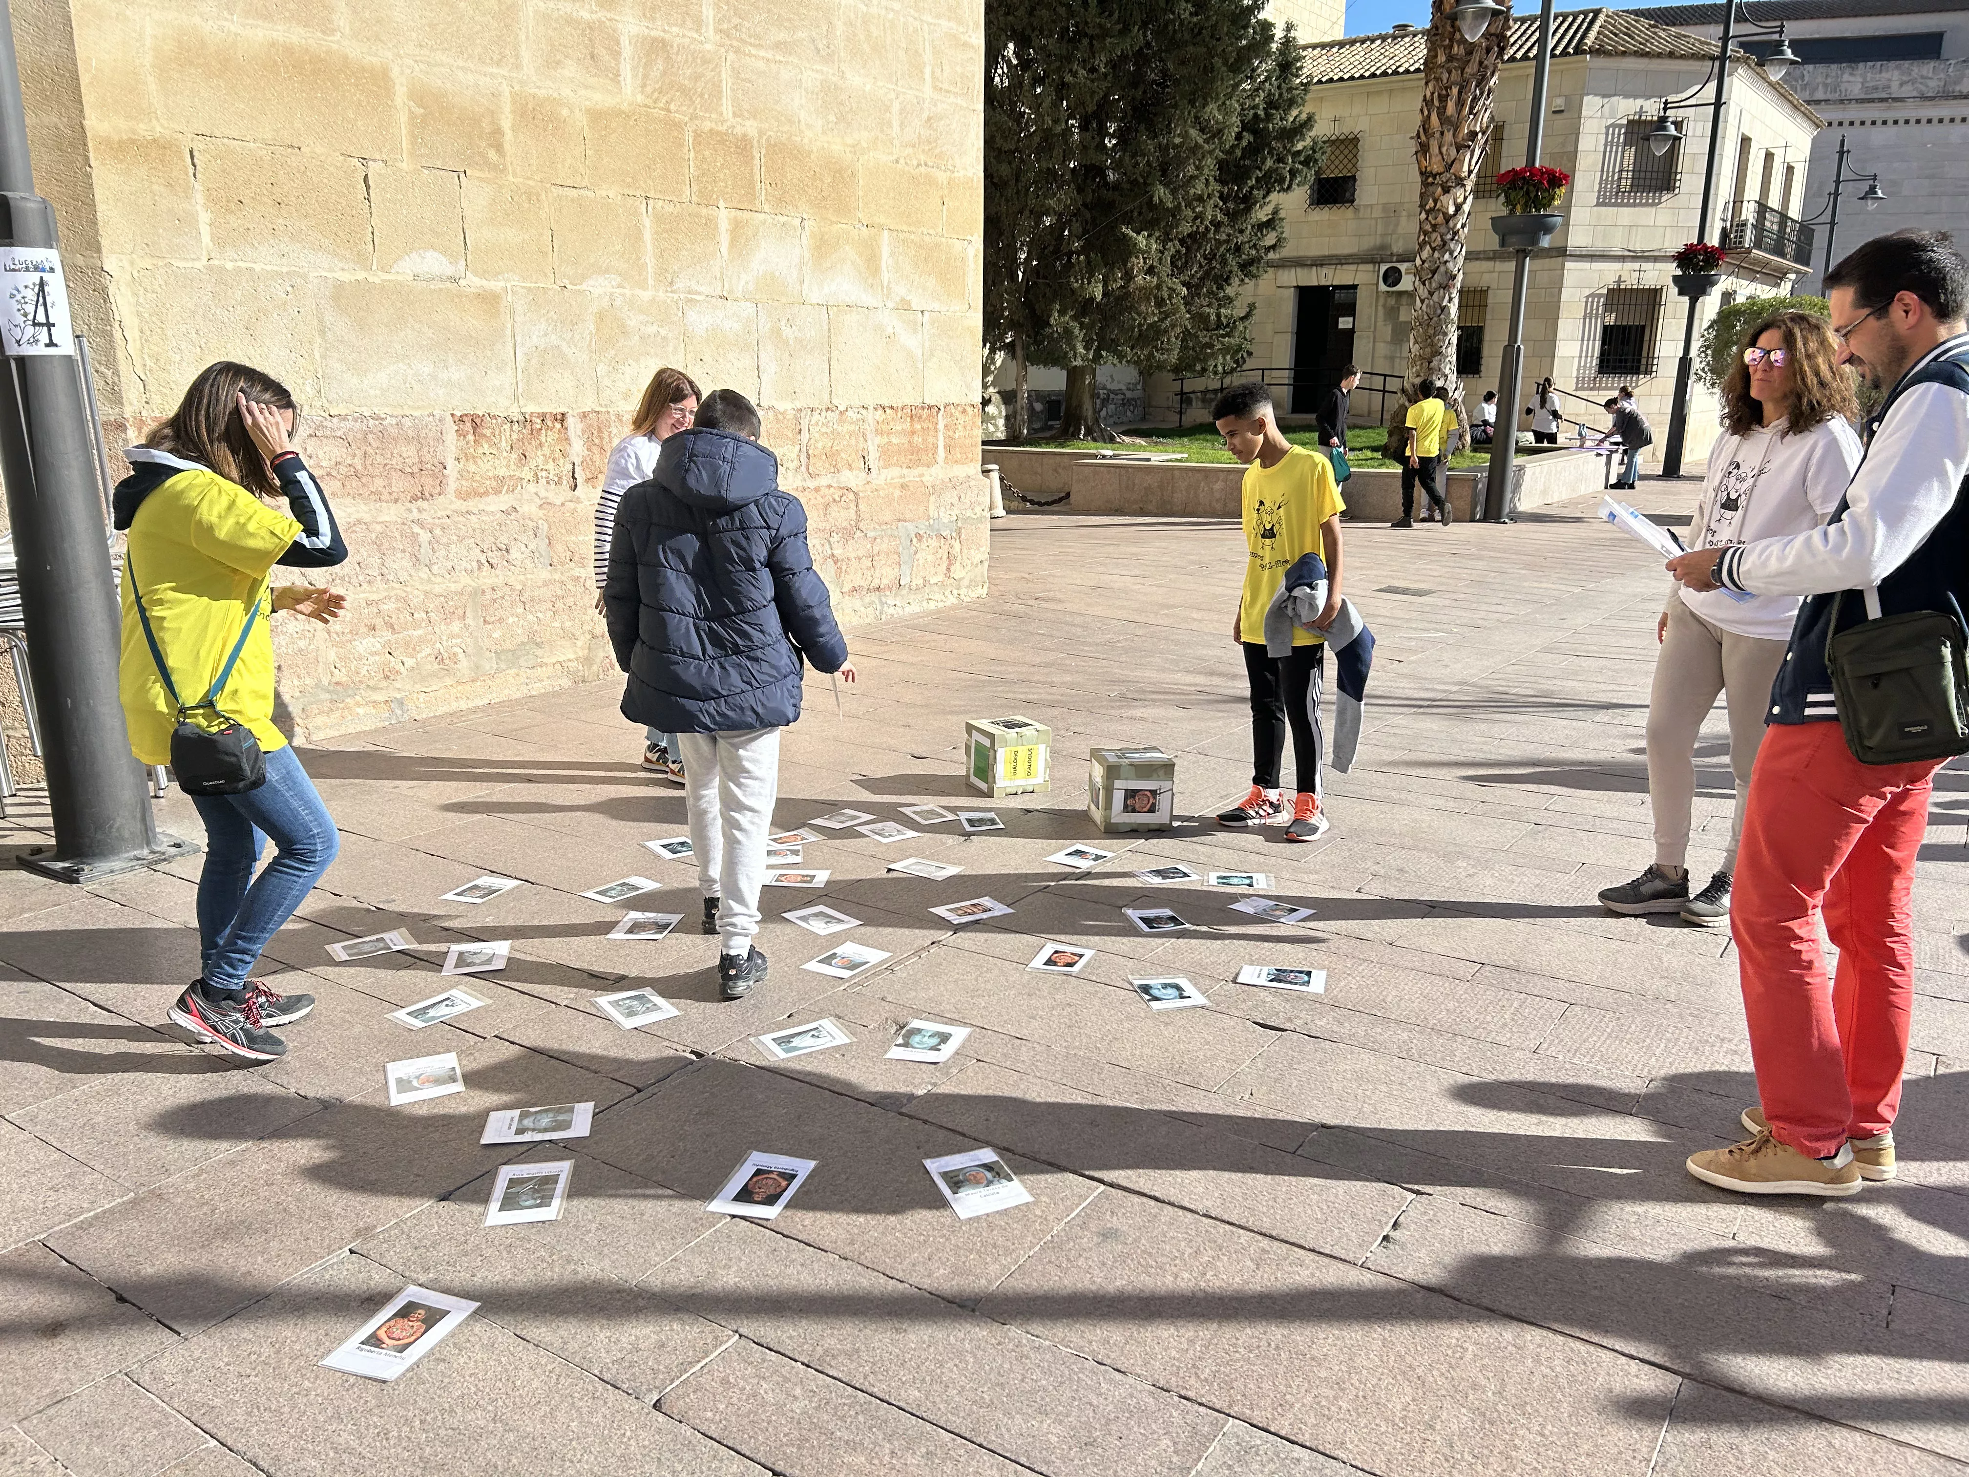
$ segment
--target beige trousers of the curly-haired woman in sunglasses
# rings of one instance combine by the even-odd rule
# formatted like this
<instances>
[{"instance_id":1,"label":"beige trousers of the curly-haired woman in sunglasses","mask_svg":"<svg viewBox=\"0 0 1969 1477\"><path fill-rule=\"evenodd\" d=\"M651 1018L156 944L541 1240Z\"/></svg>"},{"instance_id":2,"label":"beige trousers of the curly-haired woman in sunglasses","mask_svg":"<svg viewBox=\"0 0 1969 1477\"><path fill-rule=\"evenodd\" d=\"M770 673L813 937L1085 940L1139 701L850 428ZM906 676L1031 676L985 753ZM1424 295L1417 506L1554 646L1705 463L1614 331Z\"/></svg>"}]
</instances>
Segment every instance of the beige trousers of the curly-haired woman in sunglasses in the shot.
<instances>
[{"instance_id":1,"label":"beige trousers of the curly-haired woman in sunglasses","mask_svg":"<svg viewBox=\"0 0 1969 1477\"><path fill-rule=\"evenodd\" d=\"M1685 867L1689 813L1695 802L1695 737L1717 693L1729 701L1729 766L1737 776L1737 815L1729 829L1723 870L1737 868L1743 805L1750 794L1750 766L1764 742L1770 683L1784 666L1788 642L1739 636L1695 614L1682 597L1668 603L1668 634L1654 660L1648 695L1648 800L1654 803L1654 861Z\"/></svg>"}]
</instances>

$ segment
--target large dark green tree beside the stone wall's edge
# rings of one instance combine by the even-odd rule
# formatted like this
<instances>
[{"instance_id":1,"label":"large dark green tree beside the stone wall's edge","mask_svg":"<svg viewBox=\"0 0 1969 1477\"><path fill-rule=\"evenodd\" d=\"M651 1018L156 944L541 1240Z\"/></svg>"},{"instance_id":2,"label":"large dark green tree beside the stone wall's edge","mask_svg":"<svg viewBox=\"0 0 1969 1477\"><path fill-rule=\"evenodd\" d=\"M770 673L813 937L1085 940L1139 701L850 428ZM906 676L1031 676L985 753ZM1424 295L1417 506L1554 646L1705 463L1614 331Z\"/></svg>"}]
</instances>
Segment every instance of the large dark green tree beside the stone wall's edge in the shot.
<instances>
[{"instance_id":1,"label":"large dark green tree beside the stone wall's edge","mask_svg":"<svg viewBox=\"0 0 1969 1477\"><path fill-rule=\"evenodd\" d=\"M1313 169L1307 67L1264 0L988 0L984 337L1067 364L1063 437L1109 437L1095 364L1221 370Z\"/></svg>"}]
</instances>

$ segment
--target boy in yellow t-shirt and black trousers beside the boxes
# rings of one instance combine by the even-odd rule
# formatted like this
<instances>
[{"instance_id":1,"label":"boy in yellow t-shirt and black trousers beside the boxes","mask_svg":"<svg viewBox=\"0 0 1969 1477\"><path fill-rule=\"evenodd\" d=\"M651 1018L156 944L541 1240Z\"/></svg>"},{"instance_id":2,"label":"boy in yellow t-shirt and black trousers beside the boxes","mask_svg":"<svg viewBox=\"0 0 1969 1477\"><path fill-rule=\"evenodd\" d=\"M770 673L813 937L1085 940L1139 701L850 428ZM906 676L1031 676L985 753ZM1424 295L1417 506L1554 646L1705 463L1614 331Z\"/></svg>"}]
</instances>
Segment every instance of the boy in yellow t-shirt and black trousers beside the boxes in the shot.
<instances>
[{"instance_id":1,"label":"boy in yellow t-shirt and black trousers beside the boxes","mask_svg":"<svg viewBox=\"0 0 1969 1477\"><path fill-rule=\"evenodd\" d=\"M1298 800L1288 841L1313 841L1327 829L1319 809L1319 697L1325 685L1325 638L1315 630L1292 632L1292 654L1270 658L1264 650L1264 612L1286 571L1305 553L1327 565L1327 605L1313 620L1319 630L1341 610L1341 500L1333 463L1317 451L1292 445L1278 429L1272 396L1262 384L1239 384L1217 398L1211 412L1225 447L1244 463L1244 591L1231 622L1231 640L1244 648L1250 679L1250 794L1219 815L1221 825L1264 825L1286 811L1280 764L1286 731L1298 768Z\"/></svg>"}]
</instances>

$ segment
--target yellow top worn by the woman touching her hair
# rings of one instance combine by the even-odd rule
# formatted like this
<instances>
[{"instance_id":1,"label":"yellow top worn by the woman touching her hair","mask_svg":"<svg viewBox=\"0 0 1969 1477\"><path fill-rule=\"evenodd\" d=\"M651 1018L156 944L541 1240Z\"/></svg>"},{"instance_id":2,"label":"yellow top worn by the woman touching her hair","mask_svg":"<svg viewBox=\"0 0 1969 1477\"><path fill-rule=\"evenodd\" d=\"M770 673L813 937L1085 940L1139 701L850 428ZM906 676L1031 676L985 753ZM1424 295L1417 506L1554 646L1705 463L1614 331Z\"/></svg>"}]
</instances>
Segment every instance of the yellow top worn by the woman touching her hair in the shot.
<instances>
[{"instance_id":1,"label":"yellow top worn by the woman touching her hair","mask_svg":"<svg viewBox=\"0 0 1969 1477\"><path fill-rule=\"evenodd\" d=\"M144 640L130 595L130 569L142 585L144 610L171 668L171 681L187 703L205 697L240 638L246 612L254 601L260 603L260 618L219 693L219 709L252 729L260 748L272 754L287 740L274 727L274 638L266 628L274 609L266 573L299 534L293 518L203 467L161 482L138 506L122 579L118 695L130 725L130 748L142 762L171 762L177 703L163 689Z\"/></svg>"}]
</instances>

